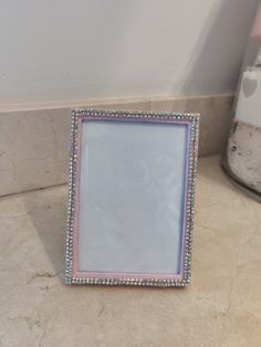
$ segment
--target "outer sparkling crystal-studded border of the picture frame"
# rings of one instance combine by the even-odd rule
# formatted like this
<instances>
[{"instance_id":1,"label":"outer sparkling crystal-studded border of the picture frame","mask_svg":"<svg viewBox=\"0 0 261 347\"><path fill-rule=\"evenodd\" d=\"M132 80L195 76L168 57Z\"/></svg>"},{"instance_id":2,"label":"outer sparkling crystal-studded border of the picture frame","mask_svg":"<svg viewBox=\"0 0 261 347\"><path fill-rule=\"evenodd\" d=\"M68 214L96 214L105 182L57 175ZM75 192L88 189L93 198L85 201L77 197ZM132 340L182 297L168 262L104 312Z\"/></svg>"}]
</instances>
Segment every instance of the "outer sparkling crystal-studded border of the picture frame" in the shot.
<instances>
[{"instance_id":1,"label":"outer sparkling crystal-studded border of the picture frame","mask_svg":"<svg viewBox=\"0 0 261 347\"><path fill-rule=\"evenodd\" d=\"M73 276L73 230L75 222L75 196L76 196L76 168L79 159L79 120L81 118L111 119L126 118L126 120L148 122L148 123L189 123L189 158L188 158L188 181L187 181L187 207L186 207L186 233L185 253L182 262L182 277L174 278L97 278ZM199 114L179 113L156 113L136 111L103 111L103 109L72 109L71 123L71 148L69 164L69 198L67 198L67 228L66 228L66 260L65 260L65 282L67 284L94 284L94 285L137 285L137 286L159 286L159 287L185 287L190 283L191 273L191 250L194 233L195 213L195 178L197 174L198 159L198 135Z\"/></svg>"}]
</instances>

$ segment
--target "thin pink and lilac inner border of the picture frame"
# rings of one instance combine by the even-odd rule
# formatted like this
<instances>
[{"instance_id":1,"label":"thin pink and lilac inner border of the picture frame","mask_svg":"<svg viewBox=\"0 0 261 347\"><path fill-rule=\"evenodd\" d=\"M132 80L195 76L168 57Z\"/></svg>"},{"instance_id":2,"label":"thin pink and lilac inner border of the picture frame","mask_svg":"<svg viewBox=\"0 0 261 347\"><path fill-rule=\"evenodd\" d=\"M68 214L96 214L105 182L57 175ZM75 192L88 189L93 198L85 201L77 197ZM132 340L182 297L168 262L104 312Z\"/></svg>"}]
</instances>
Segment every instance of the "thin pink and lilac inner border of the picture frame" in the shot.
<instances>
[{"instance_id":1,"label":"thin pink and lilac inner border of the picture frame","mask_svg":"<svg viewBox=\"0 0 261 347\"><path fill-rule=\"evenodd\" d=\"M184 261L185 261L185 240L186 240L186 228L187 228L187 204L188 204L188 176L189 176L189 154L190 154L190 133L191 122L178 120L178 119L144 119L144 118L126 118L126 117L107 117L103 115L83 115L79 116L79 136L77 136L77 150L76 150L76 186L75 186L75 220L74 220L74 232L73 232L73 264L72 264L72 276L88 278L126 278L135 277L137 280L182 280L184 278ZM77 271L77 259L79 259L79 201L80 201L80 172L81 172L81 149L82 149L82 123L83 120L106 120L106 122L132 122L132 123L161 123L161 124L185 124L187 128L187 148L186 148L186 178L185 178L185 190L184 190L184 220L182 220L182 235L180 246L180 273L179 274L149 274L149 273L115 273L115 272L80 272Z\"/></svg>"}]
</instances>

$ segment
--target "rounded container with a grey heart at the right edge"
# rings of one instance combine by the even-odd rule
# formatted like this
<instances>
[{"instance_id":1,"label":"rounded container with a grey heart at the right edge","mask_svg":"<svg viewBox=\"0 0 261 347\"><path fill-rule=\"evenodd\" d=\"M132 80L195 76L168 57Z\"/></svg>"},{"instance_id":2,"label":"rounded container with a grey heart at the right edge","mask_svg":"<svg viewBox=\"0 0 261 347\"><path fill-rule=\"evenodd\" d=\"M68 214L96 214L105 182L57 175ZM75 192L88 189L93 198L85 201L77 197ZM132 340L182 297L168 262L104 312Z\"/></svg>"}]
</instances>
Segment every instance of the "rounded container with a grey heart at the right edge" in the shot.
<instances>
[{"instance_id":1,"label":"rounded container with a grey heart at the right edge","mask_svg":"<svg viewBox=\"0 0 261 347\"><path fill-rule=\"evenodd\" d=\"M261 7L250 38L222 167L237 186L261 202Z\"/></svg>"}]
</instances>

